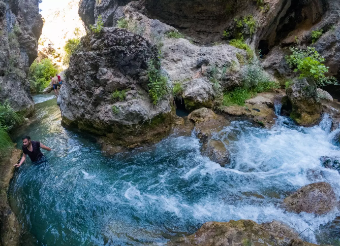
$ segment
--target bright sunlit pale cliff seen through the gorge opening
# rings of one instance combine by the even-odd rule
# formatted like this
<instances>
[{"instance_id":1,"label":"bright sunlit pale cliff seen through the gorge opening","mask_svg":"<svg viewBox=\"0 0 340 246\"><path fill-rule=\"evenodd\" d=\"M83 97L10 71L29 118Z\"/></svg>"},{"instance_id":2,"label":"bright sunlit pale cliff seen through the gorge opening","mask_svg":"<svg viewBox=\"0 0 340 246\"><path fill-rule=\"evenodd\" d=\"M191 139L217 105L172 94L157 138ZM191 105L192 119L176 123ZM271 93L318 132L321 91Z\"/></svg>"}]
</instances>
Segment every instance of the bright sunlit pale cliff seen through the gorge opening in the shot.
<instances>
[{"instance_id":1,"label":"bright sunlit pale cliff seen through the gorge opening","mask_svg":"<svg viewBox=\"0 0 340 246\"><path fill-rule=\"evenodd\" d=\"M66 42L85 35L78 8L79 0L70 0L65 6L44 12L44 28L38 47L40 58L48 57L58 66L67 68L68 64L63 60Z\"/></svg>"}]
</instances>

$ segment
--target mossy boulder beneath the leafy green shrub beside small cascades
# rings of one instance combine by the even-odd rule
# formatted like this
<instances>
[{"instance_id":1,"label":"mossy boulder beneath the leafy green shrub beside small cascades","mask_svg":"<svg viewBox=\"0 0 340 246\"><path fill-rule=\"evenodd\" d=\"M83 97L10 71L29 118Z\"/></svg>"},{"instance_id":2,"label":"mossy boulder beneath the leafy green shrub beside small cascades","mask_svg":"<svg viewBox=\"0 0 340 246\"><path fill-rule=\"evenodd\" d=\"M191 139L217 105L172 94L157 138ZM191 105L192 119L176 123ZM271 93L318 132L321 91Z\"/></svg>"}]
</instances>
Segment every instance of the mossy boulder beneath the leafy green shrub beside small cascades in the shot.
<instances>
[{"instance_id":1,"label":"mossy boulder beneath the leafy green shrub beside small cascades","mask_svg":"<svg viewBox=\"0 0 340 246\"><path fill-rule=\"evenodd\" d=\"M287 96L292 104L292 119L302 126L316 125L321 117L322 105L313 81L296 79L287 89Z\"/></svg>"}]
</instances>

